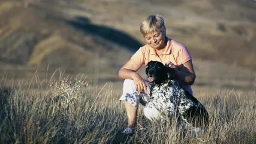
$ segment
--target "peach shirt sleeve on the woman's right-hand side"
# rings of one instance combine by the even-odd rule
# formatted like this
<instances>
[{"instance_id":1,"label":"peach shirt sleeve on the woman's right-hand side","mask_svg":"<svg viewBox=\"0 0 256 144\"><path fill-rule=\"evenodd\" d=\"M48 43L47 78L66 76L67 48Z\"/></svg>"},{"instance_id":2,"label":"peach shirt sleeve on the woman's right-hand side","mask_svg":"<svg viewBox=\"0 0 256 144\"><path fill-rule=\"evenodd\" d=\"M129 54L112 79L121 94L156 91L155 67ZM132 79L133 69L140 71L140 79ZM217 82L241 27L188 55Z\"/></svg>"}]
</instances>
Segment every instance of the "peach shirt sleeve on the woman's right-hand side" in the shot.
<instances>
[{"instance_id":1,"label":"peach shirt sleeve on the woman's right-hand side","mask_svg":"<svg viewBox=\"0 0 256 144\"><path fill-rule=\"evenodd\" d=\"M185 46L182 46L181 49L178 52L177 64L178 65L184 64L184 63L188 62L191 59L192 59L192 57L191 57L188 49Z\"/></svg>"}]
</instances>

